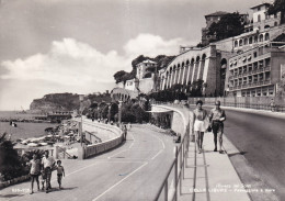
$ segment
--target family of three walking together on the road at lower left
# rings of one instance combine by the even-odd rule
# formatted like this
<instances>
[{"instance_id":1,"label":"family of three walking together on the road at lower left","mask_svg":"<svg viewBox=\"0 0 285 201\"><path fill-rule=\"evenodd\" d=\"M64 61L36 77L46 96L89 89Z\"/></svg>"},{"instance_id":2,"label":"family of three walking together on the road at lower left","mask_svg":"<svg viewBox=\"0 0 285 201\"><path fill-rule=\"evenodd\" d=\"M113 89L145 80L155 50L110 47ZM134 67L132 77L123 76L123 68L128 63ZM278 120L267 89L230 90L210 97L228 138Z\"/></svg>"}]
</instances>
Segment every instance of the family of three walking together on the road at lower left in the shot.
<instances>
[{"instance_id":1,"label":"family of three walking together on the road at lower left","mask_svg":"<svg viewBox=\"0 0 285 201\"><path fill-rule=\"evenodd\" d=\"M49 152L45 150L44 157L42 159L37 158L37 155L33 155L33 159L29 163L31 165L30 175L31 175L31 186L32 191L31 194L34 193L34 181L36 180L37 190L39 190L39 181L38 177L42 180L42 190L49 192L52 189L50 179L53 170L57 170L57 182L59 185L59 189L61 189L61 179L65 176L65 168L61 165L61 160L55 160L53 156L49 156ZM45 188L46 182L46 188Z\"/></svg>"}]
</instances>

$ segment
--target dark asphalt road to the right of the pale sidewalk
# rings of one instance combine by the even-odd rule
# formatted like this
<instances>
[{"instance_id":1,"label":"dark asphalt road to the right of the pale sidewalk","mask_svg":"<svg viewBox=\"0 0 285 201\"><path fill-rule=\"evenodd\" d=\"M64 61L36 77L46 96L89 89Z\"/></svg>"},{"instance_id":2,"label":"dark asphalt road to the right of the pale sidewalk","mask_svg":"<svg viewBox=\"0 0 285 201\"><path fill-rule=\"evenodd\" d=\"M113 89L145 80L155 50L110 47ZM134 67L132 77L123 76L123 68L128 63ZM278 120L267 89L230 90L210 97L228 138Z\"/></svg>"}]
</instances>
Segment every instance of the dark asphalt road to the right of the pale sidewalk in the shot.
<instances>
[{"instance_id":1,"label":"dark asphalt road to the right of the pale sidewalk","mask_svg":"<svg viewBox=\"0 0 285 201\"><path fill-rule=\"evenodd\" d=\"M226 136L246 158L244 165L254 170L244 174L244 166L237 169L243 183L254 188L262 182L262 188L275 189L280 200L285 200L285 120L237 110L226 110Z\"/></svg>"}]
</instances>

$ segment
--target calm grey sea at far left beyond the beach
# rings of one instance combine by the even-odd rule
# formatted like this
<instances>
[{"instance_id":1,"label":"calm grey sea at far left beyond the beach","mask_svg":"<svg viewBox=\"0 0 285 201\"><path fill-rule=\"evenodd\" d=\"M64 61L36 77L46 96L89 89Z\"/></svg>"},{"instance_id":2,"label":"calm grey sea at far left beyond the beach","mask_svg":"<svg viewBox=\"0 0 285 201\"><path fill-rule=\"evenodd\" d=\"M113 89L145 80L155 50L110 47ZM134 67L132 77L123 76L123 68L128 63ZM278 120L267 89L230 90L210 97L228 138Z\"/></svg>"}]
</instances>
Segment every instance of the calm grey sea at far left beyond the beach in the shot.
<instances>
[{"instance_id":1,"label":"calm grey sea at far left beyond the beach","mask_svg":"<svg viewBox=\"0 0 285 201\"><path fill-rule=\"evenodd\" d=\"M36 114L19 113L15 111L0 111L0 119L33 119ZM56 123L30 123L16 122L16 127L10 125L9 122L0 122L0 136L3 133L11 134L12 141L19 138L39 137L45 135L46 127L55 127Z\"/></svg>"}]
</instances>

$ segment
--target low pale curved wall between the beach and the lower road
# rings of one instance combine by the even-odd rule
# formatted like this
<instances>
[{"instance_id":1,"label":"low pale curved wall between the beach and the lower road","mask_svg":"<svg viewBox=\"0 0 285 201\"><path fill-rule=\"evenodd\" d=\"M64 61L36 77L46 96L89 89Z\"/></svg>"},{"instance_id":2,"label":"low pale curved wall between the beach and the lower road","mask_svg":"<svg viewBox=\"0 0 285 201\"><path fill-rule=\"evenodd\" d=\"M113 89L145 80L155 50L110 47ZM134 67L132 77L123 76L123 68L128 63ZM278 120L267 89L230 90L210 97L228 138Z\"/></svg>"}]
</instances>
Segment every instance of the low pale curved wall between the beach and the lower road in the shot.
<instances>
[{"instance_id":1,"label":"low pale curved wall between the beach and the lower road","mask_svg":"<svg viewBox=\"0 0 285 201\"><path fill-rule=\"evenodd\" d=\"M87 122L83 122L83 124ZM112 133L114 133L115 137L102 142L102 143L96 143L92 145L87 145L83 147L78 148L78 158L79 159L86 159L92 156L96 156L99 154L102 154L104 152L107 152L112 148L115 148L119 144L124 142L124 135L121 129L114 126L114 125L109 125L109 124L101 124L101 123L92 123L93 126L99 127L101 130L106 130Z\"/></svg>"}]
</instances>

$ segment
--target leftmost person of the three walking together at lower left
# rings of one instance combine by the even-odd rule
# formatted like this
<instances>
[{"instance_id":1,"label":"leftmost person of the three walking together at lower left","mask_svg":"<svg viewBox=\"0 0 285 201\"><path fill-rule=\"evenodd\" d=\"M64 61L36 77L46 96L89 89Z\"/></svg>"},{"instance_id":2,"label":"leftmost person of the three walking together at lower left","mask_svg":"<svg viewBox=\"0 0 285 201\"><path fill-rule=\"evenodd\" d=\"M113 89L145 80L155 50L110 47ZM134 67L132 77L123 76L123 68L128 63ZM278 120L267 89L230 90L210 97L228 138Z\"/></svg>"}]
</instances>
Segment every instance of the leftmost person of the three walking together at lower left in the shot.
<instances>
[{"instance_id":1,"label":"leftmost person of the three walking together at lower left","mask_svg":"<svg viewBox=\"0 0 285 201\"><path fill-rule=\"evenodd\" d=\"M35 180L37 183L37 190L39 190L38 176L41 174L41 160L37 158L36 154L33 154L33 159L30 160L30 165L31 165L30 175L31 175L31 186L32 186L31 194L33 194Z\"/></svg>"}]
</instances>

